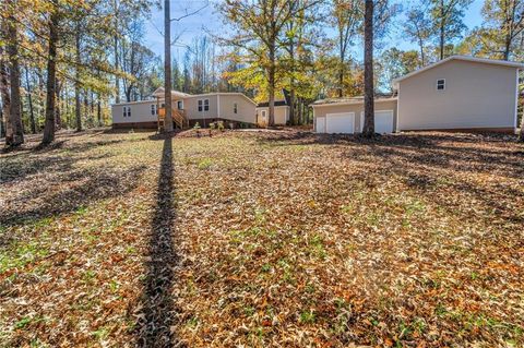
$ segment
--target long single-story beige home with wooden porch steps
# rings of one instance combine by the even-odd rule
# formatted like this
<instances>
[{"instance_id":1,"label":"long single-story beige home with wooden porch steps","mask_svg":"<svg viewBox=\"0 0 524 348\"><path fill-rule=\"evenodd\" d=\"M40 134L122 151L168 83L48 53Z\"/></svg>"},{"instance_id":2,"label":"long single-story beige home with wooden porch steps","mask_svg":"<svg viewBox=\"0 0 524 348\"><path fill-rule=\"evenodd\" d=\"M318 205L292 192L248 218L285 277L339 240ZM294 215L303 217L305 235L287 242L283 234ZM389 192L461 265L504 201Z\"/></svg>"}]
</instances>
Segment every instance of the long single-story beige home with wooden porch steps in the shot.
<instances>
[{"instance_id":1,"label":"long single-story beige home with wooden porch steps","mask_svg":"<svg viewBox=\"0 0 524 348\"><path fill-rule=\"evenodd\" d=\"M241 93L190 95L171 91L171 113L175 125L207 127L224 121L226 127L257 123L257 104ZM111 106L114 128L157 128L165 115L165 89L158 88L152 99L120 103Z\"/></svg>"}]
</instances>

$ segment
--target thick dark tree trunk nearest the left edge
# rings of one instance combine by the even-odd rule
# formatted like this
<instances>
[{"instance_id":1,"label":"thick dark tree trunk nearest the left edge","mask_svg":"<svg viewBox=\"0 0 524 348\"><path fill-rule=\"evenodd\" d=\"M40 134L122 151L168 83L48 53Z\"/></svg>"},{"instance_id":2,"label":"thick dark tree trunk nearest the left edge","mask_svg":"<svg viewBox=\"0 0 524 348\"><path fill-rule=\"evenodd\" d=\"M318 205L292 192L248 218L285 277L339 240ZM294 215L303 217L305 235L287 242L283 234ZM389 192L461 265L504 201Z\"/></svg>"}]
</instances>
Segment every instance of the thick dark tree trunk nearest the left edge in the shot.
<instances>
[{"instance_id":1,"label":"thick dark tree trunk nearest the left edge","mask_svg":"<svg viewBox=\"0 0 524 348\"><path fill-rule=\"evenodd\" d=\"M8 56L10 63L10 81L11 81L11 125L13 128L13 141L12 146L19 146L24 143L24 129L22 125L22 100L20 96L20 64L19 64L19 46L17 46L17 31L16 23L14 19L15 3L13 0L10 1L12 9L10 9L10 15L7 21L8 23Z\"/></svg>"}]
</instances>

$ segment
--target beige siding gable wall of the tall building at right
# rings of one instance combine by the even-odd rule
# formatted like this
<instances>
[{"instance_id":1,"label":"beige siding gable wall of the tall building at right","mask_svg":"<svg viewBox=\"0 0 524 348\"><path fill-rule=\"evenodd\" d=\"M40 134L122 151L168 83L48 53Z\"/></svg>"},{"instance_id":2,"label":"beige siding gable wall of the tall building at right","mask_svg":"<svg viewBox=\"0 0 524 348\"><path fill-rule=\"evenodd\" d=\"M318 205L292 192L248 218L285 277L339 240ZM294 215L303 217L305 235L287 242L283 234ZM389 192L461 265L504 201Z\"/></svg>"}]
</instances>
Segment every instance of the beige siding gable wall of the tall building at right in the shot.
<instances>
[{"instance_id":1,"label":"beige siding gable wall of the tall building at right","mask_svg":"<svg viewBox=\"0 0 524 348\"><path fill-rule=\"evenodd\" d=\"M402 80L398 129L513 129L516 68L450 60ZM443 91L436 91L445 80Z\"/></svg>"}]
</instances>

